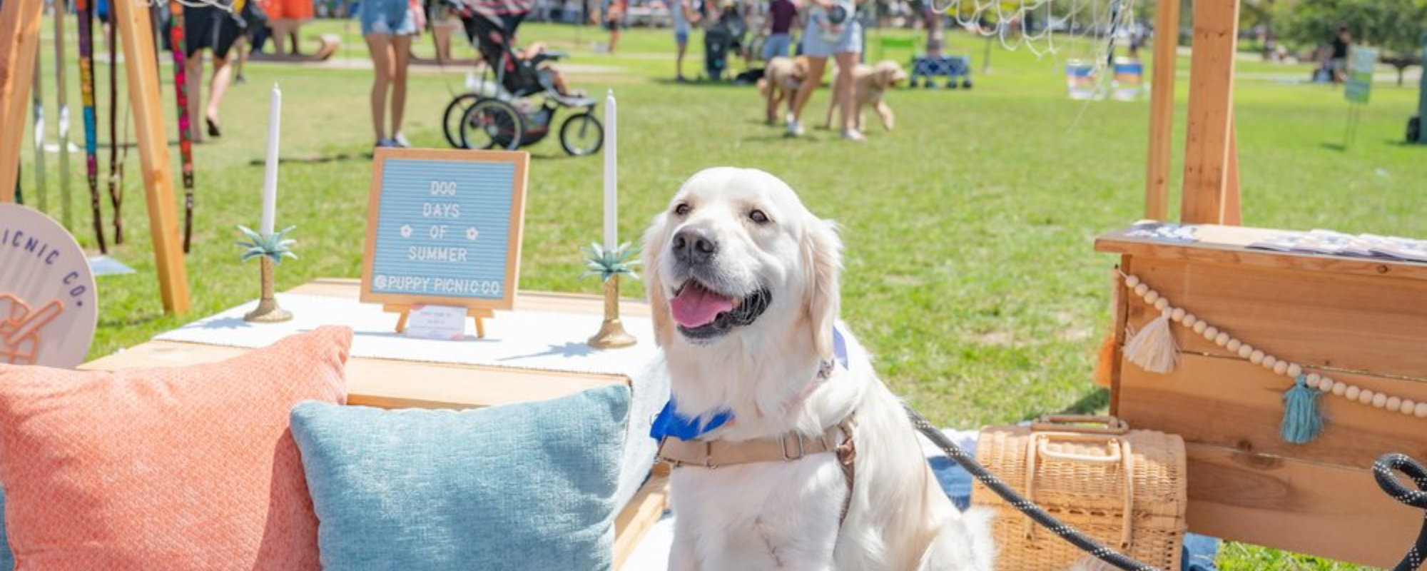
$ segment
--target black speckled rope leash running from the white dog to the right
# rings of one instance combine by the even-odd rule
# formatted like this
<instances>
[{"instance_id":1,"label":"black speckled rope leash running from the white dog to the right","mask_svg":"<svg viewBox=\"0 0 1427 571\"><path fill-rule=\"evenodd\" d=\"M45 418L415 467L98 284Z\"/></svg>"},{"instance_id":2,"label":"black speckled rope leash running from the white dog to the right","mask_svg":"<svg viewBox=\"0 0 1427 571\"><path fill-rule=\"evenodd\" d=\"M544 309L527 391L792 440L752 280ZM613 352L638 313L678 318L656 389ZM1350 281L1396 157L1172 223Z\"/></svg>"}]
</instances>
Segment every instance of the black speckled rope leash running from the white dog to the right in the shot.
<instances>
[{"instance_id":1,"label":"black speckled rope leash running from the white dog to the right","mask_svg":"<svg viewBox=\"0 0 1427 571\"><path fill-rule=\"evenodd\" d=\"M1000 495L1002 500L1006 500L1006 502L1013 505L1022 514L1026 514L1026 517L1033 520L1040 527L1050 530L1062 540L1080 548L1080 551L1085 551L1092 557L1120 570L1162 571L1112 550L1080 532L1080 530L1060 522L1060 520L1056 520L1055 515L1047 514L1039 505L1027 501L1025 497L1006 485L1006 482L1000 481L996 474L992 474L986 470L986 467L976 463L976 457L966 454L962 447L956 445L956 443L948 438L946 434L942 434L942 431L933 427L932 423L929 423L920 413L905 404L903 408L906 408L906 415L912 420L912 425L916 427L922 435L930 440L932 444L936 444L936 447L940 448L948 458L955 460L956 464L966 468L966 471L970 473L976 481L990 488L990 491ZM1411 478L1413 482L1417 484L1418 490L1408 490L1398 482L1397 477L1393 475L1394 471L1401 471ZM1373 475L1377 478L1377 485L1381 487L1387 495L1391 495L1393 500L1414 508L1427 510L1427 467L1423 467L1416 460L1403 454L1386 454L1381 458L1377 458L1377 463L1373 464ZM1407 552L1407 557L1404 557L1403 561L1393 568L1393 571L1417 571L1424 558L1427 558L1427 521L1423 522L1423 531L1417 535L1417 542L1413 545L1411 551Z\"/></svg>"}]
</instances>

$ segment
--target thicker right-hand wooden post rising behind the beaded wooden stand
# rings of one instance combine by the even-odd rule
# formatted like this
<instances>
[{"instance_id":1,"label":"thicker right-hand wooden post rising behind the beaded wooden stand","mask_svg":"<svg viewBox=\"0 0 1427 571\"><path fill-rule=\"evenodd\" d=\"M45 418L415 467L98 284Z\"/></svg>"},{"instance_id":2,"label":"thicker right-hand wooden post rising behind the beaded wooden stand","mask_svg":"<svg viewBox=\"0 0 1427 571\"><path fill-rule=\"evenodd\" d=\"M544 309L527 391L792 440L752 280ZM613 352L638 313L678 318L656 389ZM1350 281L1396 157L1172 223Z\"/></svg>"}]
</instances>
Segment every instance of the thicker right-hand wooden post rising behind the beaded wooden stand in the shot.
<instances>
[{"instance_id":1,"label":"thicker right-hand wooden post rising behind the beaded wooden stand","mask_svg":"<svg viewBox=\"0 0 1427 571\"><path fill-rule=\"evenodd\" d=\"M1224 221L1232 163L1234 49L1239 0L1194 1L1194 56L1189 64L1189 126L1184 138L1184 190L1180 220Z\"/></svg>"}]
</instances>

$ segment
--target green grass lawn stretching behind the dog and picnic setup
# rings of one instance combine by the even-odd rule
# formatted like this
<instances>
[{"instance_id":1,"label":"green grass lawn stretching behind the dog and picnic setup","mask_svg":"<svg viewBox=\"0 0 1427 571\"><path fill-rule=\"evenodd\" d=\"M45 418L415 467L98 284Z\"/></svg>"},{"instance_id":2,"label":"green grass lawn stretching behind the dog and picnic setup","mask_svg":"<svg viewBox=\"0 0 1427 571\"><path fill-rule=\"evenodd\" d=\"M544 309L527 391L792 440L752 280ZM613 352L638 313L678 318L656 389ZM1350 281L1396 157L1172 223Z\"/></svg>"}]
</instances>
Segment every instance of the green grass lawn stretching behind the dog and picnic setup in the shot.
<instances>
[{"instance_id":1,"label":"green grass lawn stretching behind the dog and picnic setup","mask_svg":"<svg viewBox=\"0 0 1427 571\"><path fill-rule=\"evenodd\" d=\"M345 34L340 59L365 59L355 23L323 21L308 29L317 31ZM524 41L547 40L572 51L575 86L591 93L612 87L619 97L624 238L638 237L678 184L699 168L769 170L813 211L842 226L843 317L875 351L882 378L932 420L977 427L1104 405L1090 370L1109 321L1114 260L1093 253L1092 240L1143 213L1146 101L1072 101L1062 60L997 47L993 73L976 73L969 91L892 93L896 131L869 128L866 144L823 130L788 140L781 128L761 123L762 101L751 87L669 81L674 63L666 30L625 33L618 56L591 49L606 39L596 29L527 24L522 34ZM1063 47L1062 59L1077 47L1085 51L1073 43ZM952 34L952 49L972 54L980 71L982 40ZM430 39L418 50L431 54ZM688 69L696 70L701 61L698 51L691 53ZM104 86L108 66L97 67ZM1307 77L1309 70L1246 67L1284 77ZM170 69L166 63L166 81ZM1182 59L1182 73L1187 69ZM71 76L70 101L77 107L76 81ZM374 138L367 104L371 71L251 63L247 84L235 86L224 101L224 137L195 147L195 246L187 258L193 311L184 317L163 313L138 157L128 153L127 241L114 256L138 271L100 278L103 308L91 357L257 295L257 266L238 264L233 241L238 238L234 226L258 221L274 81L284 91L278 224L298 227L301 256L281 266L278 287L358 274ZM464 70L412 74L405 133L414 144L445 147L441 110L462 84ZM1180 81L1177 147L1183 146L1186 93ZM173 98L167 83L164 98ZM1427 236L1421 216L1427 211L1427 147L1400 143L1416 101L1416 89L1374 86L1357 137L1344 148L1349 107L1339 89L1240 80L1234 113L1244 223ZM825 90L813 96L809 123L822 117L826 104ZM173 130L171 111L166 120ZM73 138L81 141L81 134ZM577 276L578 247L599 237L602 161L565 157L555 141L529 151L521 287L596 293L596 283ZM23 160L26 193L33 196L29 144ZM54 204L56 157L47 160ZM177 173L177 147L173 160ZM71 184L83 194L80 164L81 157L71 158ZM1177 204L1177 196L1172 201ZM76 204L87 201L80 197ZM91 246L87 210L74 220L74 233ZM626 291L641 295L639 287ZM1353 568L1244 545L1226 550L1222 562L1226 570Z\"/></svg>"}]
</instances>

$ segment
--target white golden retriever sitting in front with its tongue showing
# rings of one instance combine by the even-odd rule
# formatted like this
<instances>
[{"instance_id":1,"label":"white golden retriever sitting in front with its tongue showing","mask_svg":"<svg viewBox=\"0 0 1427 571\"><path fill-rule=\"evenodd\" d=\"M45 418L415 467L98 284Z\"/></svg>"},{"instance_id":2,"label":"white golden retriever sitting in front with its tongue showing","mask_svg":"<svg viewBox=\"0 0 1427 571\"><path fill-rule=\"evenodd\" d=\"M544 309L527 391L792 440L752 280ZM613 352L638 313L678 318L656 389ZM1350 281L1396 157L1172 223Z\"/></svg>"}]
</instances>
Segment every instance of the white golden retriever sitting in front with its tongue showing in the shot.
<instances>
[{"instance_id":1,"label":"white golden retriever sitting in front with its tongue showing","mask_svg":"<svg viewBox=\"0 0 1427 571\"><path fill-rule=\"evenodd\" d=\"M952 505L902 404L838 324L841 250L832 223L749 168L695 174L645 234L671 405L732 415L696 440L786 445L791 431L811 441L855 421L850 490L831 453L676 467L671 571L992 570L989 512Z\"/></svg>"}]
</instances>

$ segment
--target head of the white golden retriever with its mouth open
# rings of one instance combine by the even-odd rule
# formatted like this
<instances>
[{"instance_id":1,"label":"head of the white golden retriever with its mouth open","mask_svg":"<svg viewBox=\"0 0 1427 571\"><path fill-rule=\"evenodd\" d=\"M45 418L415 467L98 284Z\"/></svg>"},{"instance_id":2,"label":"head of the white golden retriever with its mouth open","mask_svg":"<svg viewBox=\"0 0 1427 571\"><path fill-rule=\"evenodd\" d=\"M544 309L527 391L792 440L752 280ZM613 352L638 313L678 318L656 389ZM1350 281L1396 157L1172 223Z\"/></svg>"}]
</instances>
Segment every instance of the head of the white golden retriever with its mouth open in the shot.
<instances>
[{"instance_id":1,"label":"head of the white golden retriever with its mouth open","mask_svg":"<svg viewBox=\"0 0 1427 571\"><path fill-rule=\"evenodd\" d=\"M811 335L832 354L841 243L778 177L699 171L655 217L644 257L661 345Z\"/></svg>"}]
</instances>

